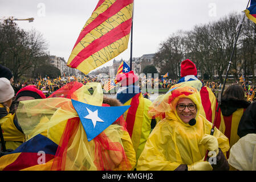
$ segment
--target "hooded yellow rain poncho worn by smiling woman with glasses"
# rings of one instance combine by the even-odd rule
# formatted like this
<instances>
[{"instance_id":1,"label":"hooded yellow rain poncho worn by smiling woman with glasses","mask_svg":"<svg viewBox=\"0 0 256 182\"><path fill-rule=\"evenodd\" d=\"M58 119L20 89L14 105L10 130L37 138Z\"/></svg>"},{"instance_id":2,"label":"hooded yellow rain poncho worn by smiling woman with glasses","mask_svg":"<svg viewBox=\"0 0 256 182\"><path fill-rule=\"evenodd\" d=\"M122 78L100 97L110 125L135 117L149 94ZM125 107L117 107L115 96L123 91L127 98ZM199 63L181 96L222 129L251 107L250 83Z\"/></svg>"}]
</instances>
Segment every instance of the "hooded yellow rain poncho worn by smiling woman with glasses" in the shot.
<instances>
[{"instance_id":1,"label":"hooded yellow rain poncho worn by smiling woman with glasses","mask_svg":"<svg viewBox=\"0 0 256 182\"><path fill-rule=\"evenodd\" d=\"M177 115L176 104L180 98L190 98L197 106L196 125L182 122ZM210 134L212 123L199 114L201 99L197 90L182 86L166 93L160 100L153 102L150 113L165 118L157 123L148 138L145 148L137 162L137 170L174 170L181 164L191 165L203 160L206 147L200 143L205 134ZM218 129L214 137L218 147L225 154L229 141Z\"/></svg>"}]
</instances>

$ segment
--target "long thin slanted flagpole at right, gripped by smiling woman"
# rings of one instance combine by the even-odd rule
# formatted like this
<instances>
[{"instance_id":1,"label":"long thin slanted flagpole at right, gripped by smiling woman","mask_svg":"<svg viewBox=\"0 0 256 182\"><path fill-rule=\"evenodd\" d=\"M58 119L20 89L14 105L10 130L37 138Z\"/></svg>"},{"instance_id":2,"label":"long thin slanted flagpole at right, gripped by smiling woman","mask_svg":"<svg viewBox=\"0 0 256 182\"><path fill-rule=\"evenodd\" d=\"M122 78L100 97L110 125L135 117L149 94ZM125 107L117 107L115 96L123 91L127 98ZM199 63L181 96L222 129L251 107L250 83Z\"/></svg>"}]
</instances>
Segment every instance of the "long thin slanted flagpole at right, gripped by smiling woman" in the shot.
<instances>
[{"instance_id":1,"label":"long thin slanted flagpole at right, gripped by smiling woman","mask_svg":"<svg viewBox=\"0 0 256 182\"><path fill-rule=\"evenodd\" d=\"M246 9L248 8L249 3L250 3L250 0L249 0L249 2L247 3ZM230 56L229 65L227 65L226 76L225 76L224 83L223 83L223 86L222 86L222 89L221 89L221 94L220 94L220 97L218 97L218 106L217 106L216 115L215 115L215 118L214 118L214 121L213 121L213 127L212 127L212 129L210 130L210 135L213 135L213 134L214 134L214 125L215 125L215 123L216 123L216 119L217 119L218 112L219 112L219 109L220 109L221 100L222 100L222 94L223 94L223 92L224 92L224 88L225 88L225 85L226 85L227 76L229 75L229 68L230 68L230 65L231 65L231 61L232 61L232 59L233 59L233 55L234 55L235 48L237 47L237 40L238 40L240 31L241 31L241 28L242 28L242 23L243 23L243 20L244 20L244 19L245 19L245 16L243 16L242 22L241 22L241 24L239 24L239 30L238 30L238 32L237 32L237 38L235 39L235 44L234 44L234 47L233 47L233 50L232 50L232 53L231 53L231 56ZM207 156L208 156L208 151L206 152L205 160L206 160L206 157L207 157Z\"/></svg>"}]
</instances>

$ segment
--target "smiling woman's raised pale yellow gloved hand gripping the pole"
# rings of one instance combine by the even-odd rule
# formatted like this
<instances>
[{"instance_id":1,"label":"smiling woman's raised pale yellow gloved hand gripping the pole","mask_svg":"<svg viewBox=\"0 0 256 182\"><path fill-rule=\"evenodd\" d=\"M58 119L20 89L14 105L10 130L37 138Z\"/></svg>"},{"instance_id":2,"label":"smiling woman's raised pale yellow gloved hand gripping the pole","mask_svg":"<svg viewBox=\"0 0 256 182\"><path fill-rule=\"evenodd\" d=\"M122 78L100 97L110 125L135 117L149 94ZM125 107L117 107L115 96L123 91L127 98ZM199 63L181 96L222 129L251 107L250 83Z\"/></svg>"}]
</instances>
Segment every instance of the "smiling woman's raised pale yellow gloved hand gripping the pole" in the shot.
<instances>
[{"instance_id":1,"label":"smiling woman's raised pale yellow gloved hand gripping the pole","mask_svg":"<svg viewBox=\"0 0 256 182\"><path fill-rule=\"evenodd\" d=\"M213 135L205 134L204 137L202 137L199 144L203 144L208 152L209 157L214 157L218 155L219 149L218 149L218 140ZM214 152L211 152L214 151Z\"/></svg>"}]
</instances>

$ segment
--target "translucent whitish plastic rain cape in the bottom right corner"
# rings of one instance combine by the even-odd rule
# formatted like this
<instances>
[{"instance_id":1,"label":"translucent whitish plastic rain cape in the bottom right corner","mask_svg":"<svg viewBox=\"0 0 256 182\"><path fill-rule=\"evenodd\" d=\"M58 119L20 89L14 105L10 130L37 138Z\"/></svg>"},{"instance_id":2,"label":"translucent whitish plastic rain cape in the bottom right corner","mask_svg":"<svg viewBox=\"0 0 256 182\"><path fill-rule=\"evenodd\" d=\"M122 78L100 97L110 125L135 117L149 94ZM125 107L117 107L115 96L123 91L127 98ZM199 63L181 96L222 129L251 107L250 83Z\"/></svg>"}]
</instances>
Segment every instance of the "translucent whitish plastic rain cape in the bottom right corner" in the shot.
<instances>
[{"instance_id":1,"label":"translucent whitish plastic rain cape in the bottom right corner","mask_svg":"<svg viewBox=\"0 0 256 182\"><path fill-rule=\"evenodd\" d=\"M239 171L256 170L256 134L247 134L230 149L228 162Z\"/></svg>"}]
</instances>

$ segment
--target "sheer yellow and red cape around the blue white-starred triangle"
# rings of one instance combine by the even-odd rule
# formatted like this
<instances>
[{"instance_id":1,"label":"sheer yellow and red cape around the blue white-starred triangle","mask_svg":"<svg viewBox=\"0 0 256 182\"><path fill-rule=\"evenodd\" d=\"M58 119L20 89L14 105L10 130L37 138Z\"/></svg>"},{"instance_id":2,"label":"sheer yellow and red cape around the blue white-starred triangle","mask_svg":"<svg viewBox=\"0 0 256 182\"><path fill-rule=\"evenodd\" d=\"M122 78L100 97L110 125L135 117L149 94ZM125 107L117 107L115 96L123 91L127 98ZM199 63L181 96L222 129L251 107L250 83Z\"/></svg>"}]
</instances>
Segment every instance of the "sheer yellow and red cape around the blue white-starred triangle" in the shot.
<instances>
[{"instance_id":1,"label":"sheer yellow and red cape around the blue white-starred triangle","mask_svg":"<svg viewBox=\"0 0 256 182\"><path fill-rule=\"evenodd\" d=\"M47 169L131 170L136 164L135 151L123 117L88 142L70 98L101 106L103 91L99 83L71 82L44 100L20 102L17 110L27 140L42 134L58 144Z\"/></svg>"}]
</instances>

